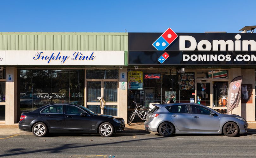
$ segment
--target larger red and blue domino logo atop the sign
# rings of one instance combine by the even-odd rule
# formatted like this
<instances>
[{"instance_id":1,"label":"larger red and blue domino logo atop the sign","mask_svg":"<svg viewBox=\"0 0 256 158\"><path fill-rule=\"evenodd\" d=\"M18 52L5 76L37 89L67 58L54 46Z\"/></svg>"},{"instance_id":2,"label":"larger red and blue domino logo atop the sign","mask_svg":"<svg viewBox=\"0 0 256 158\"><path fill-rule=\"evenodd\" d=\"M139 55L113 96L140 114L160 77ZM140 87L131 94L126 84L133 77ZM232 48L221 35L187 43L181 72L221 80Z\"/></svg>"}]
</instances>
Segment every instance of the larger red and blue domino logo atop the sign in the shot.
<instances>
[{"instance_id":1,"label":"larger red and blue domino logo atop the sign","mask_svg":"<svg viewBox=\"0 0 256 158\"><path fill-rule=\"evenodd\" d=\"M165 50L177 37L178 35L168 28L152 45L156 50Z\"/></svg>"}]
</instances>

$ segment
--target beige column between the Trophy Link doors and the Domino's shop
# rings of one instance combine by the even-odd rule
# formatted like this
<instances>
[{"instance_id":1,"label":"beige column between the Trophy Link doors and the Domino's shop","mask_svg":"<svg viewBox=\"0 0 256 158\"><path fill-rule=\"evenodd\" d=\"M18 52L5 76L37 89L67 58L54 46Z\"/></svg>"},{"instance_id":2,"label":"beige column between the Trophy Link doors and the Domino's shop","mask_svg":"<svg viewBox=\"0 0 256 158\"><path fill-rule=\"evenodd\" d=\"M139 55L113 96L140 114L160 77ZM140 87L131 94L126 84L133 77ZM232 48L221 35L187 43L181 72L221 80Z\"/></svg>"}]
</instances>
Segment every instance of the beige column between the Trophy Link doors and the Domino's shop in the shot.
<instances>
[{"instance_id":1,"label":"beige column between the Trophy Link doors and the Domino's shop","mask_svg":"<svg viewBox=\"0 0 256 158\"><path fill-rule=\"evenodd\" d=\"M121 81L122 74L125 75L125 81ZM124 86L122 89L122 84L124 82ZM122 117L127 124L127 68L119 69L119 107L117 115Z\"/></svg>"}]
</instances>

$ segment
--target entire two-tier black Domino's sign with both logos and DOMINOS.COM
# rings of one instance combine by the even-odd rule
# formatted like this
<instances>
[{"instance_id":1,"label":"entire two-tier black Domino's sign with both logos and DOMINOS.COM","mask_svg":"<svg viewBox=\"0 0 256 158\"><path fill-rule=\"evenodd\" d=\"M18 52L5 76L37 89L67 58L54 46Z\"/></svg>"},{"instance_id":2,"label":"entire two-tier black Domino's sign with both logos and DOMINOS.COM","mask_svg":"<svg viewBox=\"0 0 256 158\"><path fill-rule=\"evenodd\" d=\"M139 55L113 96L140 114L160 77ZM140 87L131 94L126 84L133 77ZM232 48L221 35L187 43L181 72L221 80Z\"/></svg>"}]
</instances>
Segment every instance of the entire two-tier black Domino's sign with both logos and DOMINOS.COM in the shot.
<instances>
[{"instance_id":1,"label":"entire two-tier black Domino's sign with both logos and DOMINOS.COM","mask_svg":"<svg viewBox=\"0 0 256 158\"><path fill-rule=\"evenodd\" d=\"M128 33L129 65L256 65L255 33Z\"/></svg>"}]
</instances>

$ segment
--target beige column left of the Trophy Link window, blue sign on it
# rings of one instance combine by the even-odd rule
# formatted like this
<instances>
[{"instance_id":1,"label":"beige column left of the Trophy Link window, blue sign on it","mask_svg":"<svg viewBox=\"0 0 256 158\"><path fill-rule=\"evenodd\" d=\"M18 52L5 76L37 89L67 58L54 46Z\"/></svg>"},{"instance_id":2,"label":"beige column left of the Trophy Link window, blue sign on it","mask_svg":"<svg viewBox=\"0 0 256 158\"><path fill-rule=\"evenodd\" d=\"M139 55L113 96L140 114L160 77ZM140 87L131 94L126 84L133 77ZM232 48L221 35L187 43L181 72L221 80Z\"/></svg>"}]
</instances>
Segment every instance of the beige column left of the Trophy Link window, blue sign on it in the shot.
<instances>
[{"instance_id":1,"label":"beige column left of the Trophy Link window, blue sign on it","mask_svg":"<svg viewBox=\"0 0 256 158\"><path fill-rule=\"evenodd\" d=\"M8 81L12 75L12 81ZM6 67L5 83L5 124L13 125L17 123L17 80L18 73L16 67Z\"/></svg>"}]
</instances>

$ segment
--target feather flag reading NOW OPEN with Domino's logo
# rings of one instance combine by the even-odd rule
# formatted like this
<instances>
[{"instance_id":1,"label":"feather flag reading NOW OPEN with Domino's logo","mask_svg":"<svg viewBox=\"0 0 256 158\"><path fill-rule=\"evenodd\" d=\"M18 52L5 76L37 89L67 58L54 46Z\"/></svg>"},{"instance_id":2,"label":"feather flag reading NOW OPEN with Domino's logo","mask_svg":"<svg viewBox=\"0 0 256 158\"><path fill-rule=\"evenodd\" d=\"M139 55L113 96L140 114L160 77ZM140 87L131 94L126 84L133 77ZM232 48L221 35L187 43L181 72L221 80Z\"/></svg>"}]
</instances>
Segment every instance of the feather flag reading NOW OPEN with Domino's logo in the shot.
<instances>
[{"instance_id":1,"label":"feather flag reading NOW OPEN with Domino's logo","mask_svg":"<svg viewBox=\"0 0 256 158\"><path fill-rule=\"evenodd\" d=\"M235 77L229 84L227 113L238 107L238 103L241 100L242 79L243 76Z\"/></svg>"}]
</instances>

